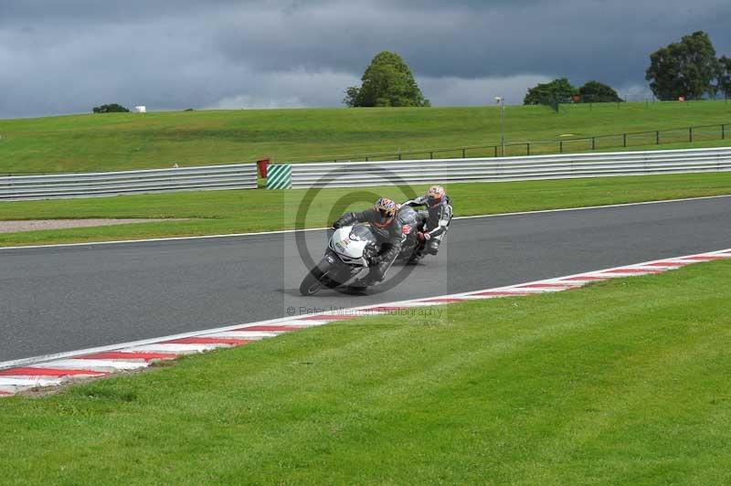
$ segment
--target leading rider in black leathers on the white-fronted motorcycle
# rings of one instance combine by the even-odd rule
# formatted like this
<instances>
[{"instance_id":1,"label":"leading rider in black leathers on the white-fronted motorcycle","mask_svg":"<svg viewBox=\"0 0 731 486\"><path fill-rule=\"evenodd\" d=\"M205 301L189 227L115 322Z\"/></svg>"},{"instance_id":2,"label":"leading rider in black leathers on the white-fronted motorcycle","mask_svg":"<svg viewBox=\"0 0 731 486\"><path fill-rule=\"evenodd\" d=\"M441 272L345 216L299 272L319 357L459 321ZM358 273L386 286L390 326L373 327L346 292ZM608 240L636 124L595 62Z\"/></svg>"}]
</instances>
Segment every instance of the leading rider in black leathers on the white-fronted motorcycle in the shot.
<instances>
[{"instance_id":1,"label":"leading rider in black leathers on the white-fronted motorcycle","mask_svg":"<svg viewBox=\"0 0 731 486\"><path fill-rule=\"evenodd\" d=\"M386 272L401 251L402 225L396 217L396 209L396 203L381 197L372 208L361 213L345 213L333 223L334 228L350 226L355 222L368 223L378 241L377 255L368 260L368 274L350 287L365 288L386 278Z\"/></svg>"}]
</instances>

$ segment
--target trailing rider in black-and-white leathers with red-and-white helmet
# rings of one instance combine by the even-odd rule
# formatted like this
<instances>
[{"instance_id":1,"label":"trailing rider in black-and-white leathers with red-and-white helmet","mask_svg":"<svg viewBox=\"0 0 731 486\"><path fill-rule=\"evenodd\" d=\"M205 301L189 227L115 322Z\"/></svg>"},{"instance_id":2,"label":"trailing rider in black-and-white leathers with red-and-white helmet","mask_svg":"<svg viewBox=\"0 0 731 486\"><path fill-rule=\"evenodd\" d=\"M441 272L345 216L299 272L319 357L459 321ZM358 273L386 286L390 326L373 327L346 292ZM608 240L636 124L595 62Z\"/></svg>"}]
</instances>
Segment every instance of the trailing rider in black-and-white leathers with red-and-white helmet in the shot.
<instances>
[{"instance_id":1,"label":"trailing rider in black-and-white leathers with red-and-white helmet","mask_svg":"<svg viewBox=\"0 0 731 486\"><path fill-rule=\"evenodd\" d=\"M424 252L429 255L436 255L440 250L441 240L450 229L452 208L450 196L444 192L441 185L429 187L426 195L411 199L404 203L408 206L427 206L426 211L420 211L426 218L426 225L422 232L418 233L419 241L423 242L422 250L418 252L415 259L409 260L415 263L423 258Z\"/></svg>"}]
</instances>

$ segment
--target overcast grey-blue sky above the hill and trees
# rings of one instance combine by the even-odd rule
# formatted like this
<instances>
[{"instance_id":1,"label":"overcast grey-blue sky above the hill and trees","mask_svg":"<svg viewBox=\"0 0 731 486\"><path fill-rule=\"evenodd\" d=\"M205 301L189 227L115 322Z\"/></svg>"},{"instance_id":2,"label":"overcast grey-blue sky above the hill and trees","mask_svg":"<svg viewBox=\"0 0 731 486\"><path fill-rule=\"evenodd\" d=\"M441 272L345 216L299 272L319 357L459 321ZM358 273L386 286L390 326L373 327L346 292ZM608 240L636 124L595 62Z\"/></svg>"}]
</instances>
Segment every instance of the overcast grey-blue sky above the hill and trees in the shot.
<instances>
[{"instance_id":1,"label":"overcast grey-blue sky above the hill and trees","mask_svg":"<svg viewBox=\"0 0 731 486\"><path fill-rule=\"evenodd\" d=\"M0 0L0 117L343 106L381 50L435 106L522 102L598 79L649 96L649 54L705 30L731 54L728 0Z\"/></svg>"}]
</instances>

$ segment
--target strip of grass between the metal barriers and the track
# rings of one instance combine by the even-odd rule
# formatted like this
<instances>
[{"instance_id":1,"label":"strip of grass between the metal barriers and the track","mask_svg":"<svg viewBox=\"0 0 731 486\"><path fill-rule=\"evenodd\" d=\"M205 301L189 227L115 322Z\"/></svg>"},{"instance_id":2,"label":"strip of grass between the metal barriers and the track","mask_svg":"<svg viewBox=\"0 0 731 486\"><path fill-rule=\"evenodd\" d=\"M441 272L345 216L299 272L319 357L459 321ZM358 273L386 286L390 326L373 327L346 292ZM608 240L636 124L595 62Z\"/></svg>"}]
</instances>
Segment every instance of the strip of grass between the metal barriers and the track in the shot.
<instances>
[{"instance_id":1,"label":"strip of grass between the metal barriers and the track","mask_svg":"<svg viewBox=\"0 0 731 486\"><path fill-rule=\"evenodd\" d=\"M410 188L327 189L317 197L295 191L208 191L0 203L0 220L57 218L180 218L117 227L86 227L0 234L0 246L184 237L325 227L347 209L362 209L379 195L397 201L421 194ZM489 215L562 207L600 206L683 197L731 194L731 173L598 177L447 186L457 216Z\"/></svg>"}]
</instances>

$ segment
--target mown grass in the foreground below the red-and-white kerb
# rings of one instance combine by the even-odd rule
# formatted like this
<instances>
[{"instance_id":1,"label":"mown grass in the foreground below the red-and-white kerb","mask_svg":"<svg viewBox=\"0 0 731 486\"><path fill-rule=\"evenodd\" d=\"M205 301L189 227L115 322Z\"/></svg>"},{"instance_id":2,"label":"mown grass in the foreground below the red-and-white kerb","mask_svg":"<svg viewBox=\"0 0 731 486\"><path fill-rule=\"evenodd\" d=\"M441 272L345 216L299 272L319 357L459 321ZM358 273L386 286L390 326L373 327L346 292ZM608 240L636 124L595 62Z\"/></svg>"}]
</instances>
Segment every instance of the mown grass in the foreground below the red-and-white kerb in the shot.
<instances>
[{"instance_id":1,"label":"mown grass in the foreground below the red-and-white kerb","mask_svg":"<svg viewBox=\"0 0 731 486\"><path fill-rule=\"evenodd\" d=\"M727 484L731 262L0 400L5 484Z\"/></svg>"}]
</instances>

